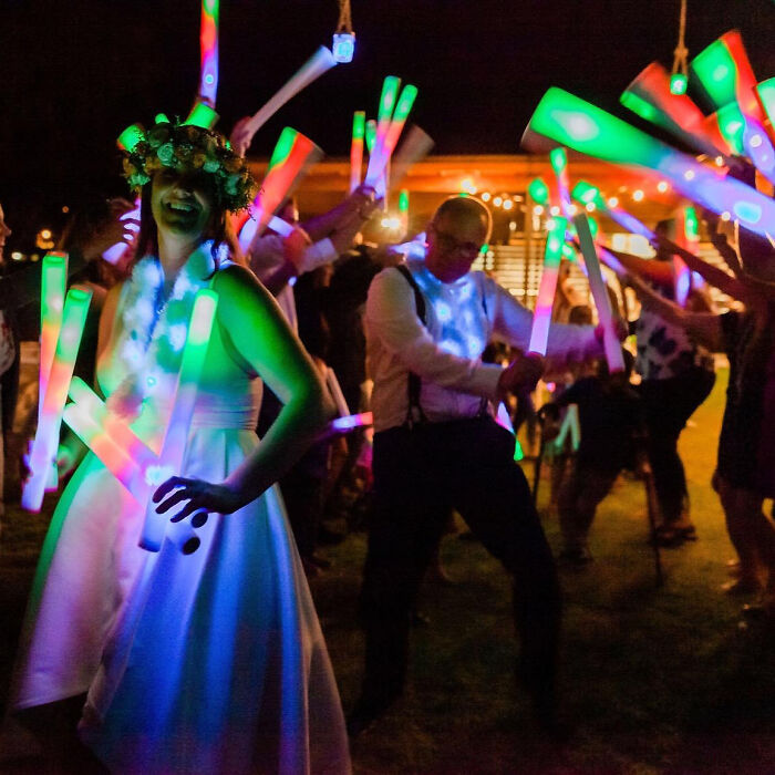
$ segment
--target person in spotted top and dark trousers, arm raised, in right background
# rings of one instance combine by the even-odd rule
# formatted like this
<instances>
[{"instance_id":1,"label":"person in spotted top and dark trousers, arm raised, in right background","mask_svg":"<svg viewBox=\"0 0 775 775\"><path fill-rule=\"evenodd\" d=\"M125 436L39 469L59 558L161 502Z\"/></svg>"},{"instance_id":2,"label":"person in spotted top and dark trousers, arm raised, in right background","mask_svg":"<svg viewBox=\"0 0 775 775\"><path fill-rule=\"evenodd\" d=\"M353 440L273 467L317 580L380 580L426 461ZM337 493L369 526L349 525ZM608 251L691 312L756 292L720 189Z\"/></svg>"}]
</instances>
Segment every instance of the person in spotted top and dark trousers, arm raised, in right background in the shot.
<instances>
[{"instance_id":1,"label":"person in spotted top and dark trousers, arm raised, in right background","mask_svg":"<svg viewBox=\"0 0 775 775\"><path fill-rule=\"evenodd\" d=\"M657 226L658 240L666 236L669 221ZM675 277L671 254L657 244L654 259L643 259L610 250L631 275L650 282L665 299L675 299ZM686 299L688 309L698 309L702 299ZM655 540L675 547L696 539L690 517L686 474L678 441L694 411L710 395L715 382L713 355L686 330L663 320L653 308L645 308L636 324L636 370L643 399L648 428L648 454L654 477L660 523Z\"/></svg>"}]
</instances>

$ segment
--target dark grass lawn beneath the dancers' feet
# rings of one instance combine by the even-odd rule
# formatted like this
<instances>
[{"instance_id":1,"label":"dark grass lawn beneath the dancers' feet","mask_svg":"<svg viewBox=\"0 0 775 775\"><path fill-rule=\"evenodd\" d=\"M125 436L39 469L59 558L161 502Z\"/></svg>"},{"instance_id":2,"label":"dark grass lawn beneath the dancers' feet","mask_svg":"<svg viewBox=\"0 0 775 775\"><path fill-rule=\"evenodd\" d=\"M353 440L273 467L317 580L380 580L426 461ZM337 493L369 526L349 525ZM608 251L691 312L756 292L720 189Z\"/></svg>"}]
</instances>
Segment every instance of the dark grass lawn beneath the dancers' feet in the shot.
<instances>
[{"instance_id":1,"label":"dark grass lawn beneath the dancers' feet","mask_svg":"<svg viewBox=\"0 0 775 775\"><path fill-rule=\"evenodd\" d=\"M775 636L741 627L742 601L719 591L732 549L709 482L724 388L722 374L681 440L700 540L662 551L664 586L654 583L642 484L628 478L598 512L596 561L562 571L570 742L542 738L514 690L505 575L478 544L453 536L443 558L456 583L424 587L431 624L413 632L406 694L354 743L358 775L775 772ZM548 483L541 487L545 506ZM556 548L557 520L544 512ZM2 536L3 696L45 514L11 509ZM353 619L364 551L362 534L327 550L334 567L312 585L345 707L361 671Z\"/></svg>"}]
</instances>

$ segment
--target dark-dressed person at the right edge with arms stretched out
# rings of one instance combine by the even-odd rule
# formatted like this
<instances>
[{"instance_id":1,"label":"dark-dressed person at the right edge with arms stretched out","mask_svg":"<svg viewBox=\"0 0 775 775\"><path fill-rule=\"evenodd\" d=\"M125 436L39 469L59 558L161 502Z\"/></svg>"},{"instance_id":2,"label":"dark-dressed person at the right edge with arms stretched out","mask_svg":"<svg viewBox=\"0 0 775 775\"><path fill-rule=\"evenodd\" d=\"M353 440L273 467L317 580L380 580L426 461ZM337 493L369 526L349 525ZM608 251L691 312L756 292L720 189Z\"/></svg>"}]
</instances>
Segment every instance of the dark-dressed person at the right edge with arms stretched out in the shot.
<instances>
[{"instance_id":1,"label":"dark-dressed person at the right edge with arms stretched out","mask_svg":"<svg viewBox=\"0 0 775 775\"><path fill-rule=\"evenodd\" d=\"M643 306L685 329L730 360L726 406L719 440L713 485L721 498L732 545L740 558L740 577L726 591L757 592L760 603L746 611L775 618L775 528L764 515L764 499L775 495L775 251L755 235L740 229L737 245L719 230L706 213L711 241L734 272L707 265L688 250L662 239L690 269L742 301L743 311L723 314L692 312L660 298L638 277L629 282Z\"/></svg>"}]
</instances>

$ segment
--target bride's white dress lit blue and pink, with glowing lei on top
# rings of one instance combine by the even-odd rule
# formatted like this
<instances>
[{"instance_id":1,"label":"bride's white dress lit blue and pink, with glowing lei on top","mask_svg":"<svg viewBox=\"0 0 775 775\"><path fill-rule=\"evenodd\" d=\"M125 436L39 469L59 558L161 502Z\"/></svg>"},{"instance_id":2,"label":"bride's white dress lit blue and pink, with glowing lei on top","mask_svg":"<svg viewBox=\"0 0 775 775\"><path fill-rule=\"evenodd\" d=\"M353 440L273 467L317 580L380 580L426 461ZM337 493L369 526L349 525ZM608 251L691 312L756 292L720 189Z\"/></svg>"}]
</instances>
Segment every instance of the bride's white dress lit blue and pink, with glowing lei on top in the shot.
<instances>
[{"instance_id":1,"label":"bride's white dress lit blue and pink, with glowing lei on top","mask_svg":"<svg viewBox=\"0 0 775 775\"><path fill-rule=\"evenodd\" d=\"M118 301L122 332L97 366L108 406L142 406L132 427L151 445L194 293L210 282L208 248L164 306L156 259L136 267ZM220 482L234 471L259 443L259 380L216 324L183 475ZM141 549L143 516L90 453L45 539L13 706L87 692L82 736L115 773L348 773L339 694L277 487L209 515L188 556L168 539Z\"/></svg>"}]
</instances>

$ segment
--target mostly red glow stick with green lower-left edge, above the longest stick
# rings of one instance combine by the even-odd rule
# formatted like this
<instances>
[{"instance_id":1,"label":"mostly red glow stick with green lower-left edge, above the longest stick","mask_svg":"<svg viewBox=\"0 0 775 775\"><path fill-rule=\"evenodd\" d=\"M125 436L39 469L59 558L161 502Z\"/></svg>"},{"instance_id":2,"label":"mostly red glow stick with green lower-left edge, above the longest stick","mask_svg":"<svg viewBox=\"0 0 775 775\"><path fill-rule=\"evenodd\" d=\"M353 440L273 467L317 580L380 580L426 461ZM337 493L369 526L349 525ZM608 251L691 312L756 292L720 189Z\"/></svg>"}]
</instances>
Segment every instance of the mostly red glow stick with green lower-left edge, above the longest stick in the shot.
<instances>
[{"instance_id":1,"label":"mostly red glow stick with green lower-left edge, above the longest stick","mask_svg":"<svg viewBox=\"0 0 775 775\"><path fill-rule=\"evenodd\" d=\"M670 73L659 62L639 73L620 102L698 153L717 156L726 148L717 126L705 126L705 115L692 99L670 91Z\"/></svg>"}]
</instances>

